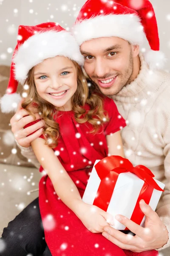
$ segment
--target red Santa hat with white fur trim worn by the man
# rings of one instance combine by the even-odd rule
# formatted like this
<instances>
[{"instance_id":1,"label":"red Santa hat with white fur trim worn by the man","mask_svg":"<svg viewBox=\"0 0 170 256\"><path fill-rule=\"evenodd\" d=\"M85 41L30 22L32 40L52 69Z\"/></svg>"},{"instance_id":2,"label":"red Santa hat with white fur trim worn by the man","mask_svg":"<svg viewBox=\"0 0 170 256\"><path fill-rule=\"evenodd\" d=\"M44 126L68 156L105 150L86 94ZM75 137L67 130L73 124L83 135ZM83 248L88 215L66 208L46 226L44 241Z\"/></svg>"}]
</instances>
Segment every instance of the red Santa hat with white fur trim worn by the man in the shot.
<instances>
[{"instance_id":1,"label":"red Santa hat with white fur trim worn by the man","mask_svg":"<svg viewBox=\"0 0 170 256\"><path fill-rule=\"evenodd\" d=\"M159 51L158 27L153 6L148 0L87 0L73 28L79 45L101 37L119 37L142 45L150 44L145 60L151 69L162 68L165 58Z\"/></svg>"}]
</instances>

